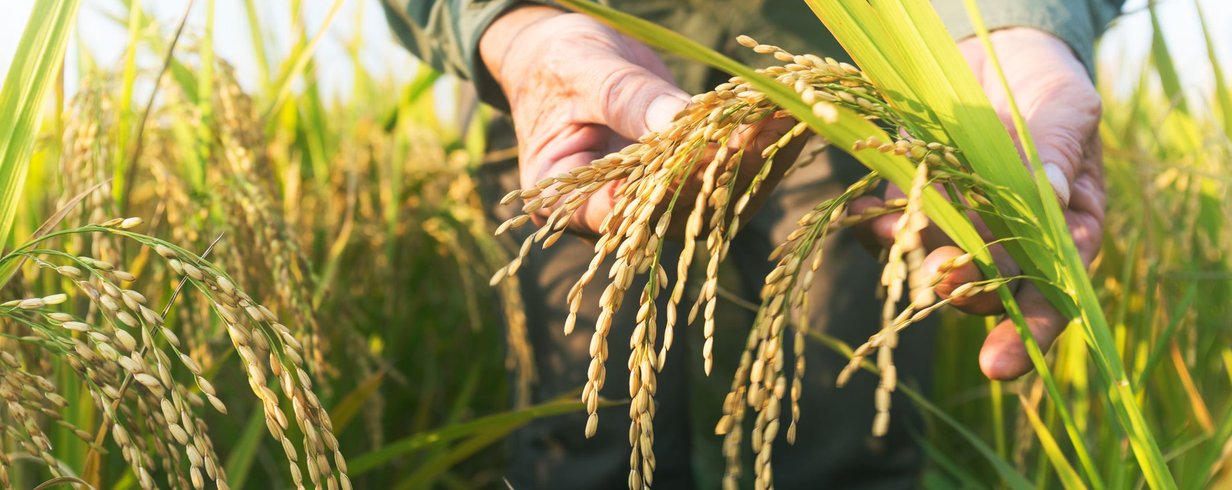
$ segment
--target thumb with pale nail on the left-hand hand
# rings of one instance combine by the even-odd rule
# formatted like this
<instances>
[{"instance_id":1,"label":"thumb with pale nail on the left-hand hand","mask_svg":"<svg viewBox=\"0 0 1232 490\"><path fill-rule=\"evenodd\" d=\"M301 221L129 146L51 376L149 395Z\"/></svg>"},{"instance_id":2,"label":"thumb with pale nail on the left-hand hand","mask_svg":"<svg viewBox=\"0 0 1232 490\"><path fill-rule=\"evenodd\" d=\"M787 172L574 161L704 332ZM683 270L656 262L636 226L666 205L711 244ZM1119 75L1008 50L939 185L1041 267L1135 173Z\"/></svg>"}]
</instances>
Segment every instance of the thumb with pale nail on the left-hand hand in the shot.
<instances>
[{"instance_id":1,"label":"thumb with pale nail on the left-hand hand","mask_svg":"<svg viewBox=\"0 0 1232 490\"><path fill-rule=\"evenodd\" d=\"M689 105L687 94L646 66L612 58L601 68L588 116L621 137L636 140L664 131Z\"/></svg>"}]
</instances>

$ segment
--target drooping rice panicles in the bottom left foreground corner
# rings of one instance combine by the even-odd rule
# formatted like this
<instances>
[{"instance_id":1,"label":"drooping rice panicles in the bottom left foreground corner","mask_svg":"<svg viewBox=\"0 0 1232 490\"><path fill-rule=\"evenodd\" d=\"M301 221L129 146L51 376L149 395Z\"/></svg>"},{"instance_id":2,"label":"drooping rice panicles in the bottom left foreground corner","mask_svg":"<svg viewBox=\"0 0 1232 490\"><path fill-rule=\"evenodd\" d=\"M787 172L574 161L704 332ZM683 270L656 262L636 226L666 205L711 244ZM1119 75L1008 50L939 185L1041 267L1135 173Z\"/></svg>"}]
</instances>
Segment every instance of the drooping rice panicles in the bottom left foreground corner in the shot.
<instances>
[{"instance_id":1,"label":"drooping rice panicles in the bottom left foreground corner","mask_svg":"<svg viewBox=\"0 0 1232 490\"><path fill-rule=\"evenodd\" d=\"M38 451L33 454L46 454L48 470L60 476L58 464L49 456L51 444L41 428L43 422L31 415L33 410L49 412L48 404L63 406L64 398L53 384L28 372L34 366L22 363L9 352L18 346L44 351L64 359L87 388L96 408L105 414L99 435L111 435L142 488L156 486L155 469L165 473L166 484L174 488L205 488L206 479L217 488L228 488L208 427L198 414L205 403L223 414L227 405L206 379L201 364L190 356L193 346L184 343L166 326L163 314L148 307L144 294L129 288L138 281L137 276L106 260L44 247L57 238L111 235L154 252L213 303L243 361L249 384L262 401L269 431L283 446L292 475L299 474L303 467L314 486L349 488L345 459L330 419L304 371L302 341L212 262L132 231L142 224L140 218L117 218L67 229L0 257L0 263L28 259L39 270L73 283L79 291L73 297L85 300L99 313L95 320L87 321L58 310L57 305L70 299L65 293L0 304L0 316L16 326L5 335L5 343L11 343L2 352L5 368L12 373L5 380L28 380L32 383L28 387L38 388L32 393L42 396L41 400L21 398L20 389L12 387L0 393L7 401L9 416L22 422L20 432L11 431L11 436L26 441L27 449ZM281 396L269 387L266 367L277 378ZM302 463L286 435L290 427L287 410L293 412L296 426L303 432L301 443L306 454ZM87 432L78 432L90 440ZM294 483L297 486L303 484L298 478Z\"/></svg>"}]
</instances>

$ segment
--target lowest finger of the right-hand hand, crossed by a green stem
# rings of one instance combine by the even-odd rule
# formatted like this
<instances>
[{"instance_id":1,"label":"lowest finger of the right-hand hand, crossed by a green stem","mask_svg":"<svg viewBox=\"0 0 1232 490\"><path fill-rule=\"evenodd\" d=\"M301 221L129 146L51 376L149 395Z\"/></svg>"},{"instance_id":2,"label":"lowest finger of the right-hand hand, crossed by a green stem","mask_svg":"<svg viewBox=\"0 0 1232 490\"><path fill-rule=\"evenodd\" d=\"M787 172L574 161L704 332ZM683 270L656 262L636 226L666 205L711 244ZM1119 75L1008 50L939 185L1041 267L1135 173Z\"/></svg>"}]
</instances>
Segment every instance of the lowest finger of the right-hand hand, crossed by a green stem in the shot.
<instances>
[{"instance_id":1,"label":"lowest finger of the right-hand hand, crossed by a green stem","mask_svg":"<svg viewBox=\"0 0 1232 490\"><path fill-rule=\"evenodd\" d=\"M1031 336L1040 345L1040 350L1047 352L1069 321L1052 308L1035 286L1024 284L1015 298ZM984 340L984 346L979 351L979 369L989 379L1009 380L1026 374L1031 368L1031 358L1014 326L1014 320L1003 319Z\"/></svg>"}]
</instances>

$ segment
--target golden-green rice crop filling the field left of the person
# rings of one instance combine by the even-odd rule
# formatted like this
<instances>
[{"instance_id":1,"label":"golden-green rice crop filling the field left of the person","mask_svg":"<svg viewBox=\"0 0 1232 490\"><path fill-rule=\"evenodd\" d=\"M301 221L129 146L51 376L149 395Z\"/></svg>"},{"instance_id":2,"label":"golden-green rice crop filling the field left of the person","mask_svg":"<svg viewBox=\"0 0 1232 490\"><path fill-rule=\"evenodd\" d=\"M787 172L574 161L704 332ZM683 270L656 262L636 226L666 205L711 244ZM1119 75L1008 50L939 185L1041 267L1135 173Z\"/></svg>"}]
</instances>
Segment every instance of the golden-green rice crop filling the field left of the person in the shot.
<instances>
[{"instance_id":1,"label":"golden-green rice crop filling the field left of the person","mask_svg":"<svg viewBox=\"0 0 1232 490\"><path fill-rule=\"evenodd\" d=\"M498 467L492 463L499 462L495 451L472 458L499 440L488 433L506 435L530 419L580 408L506 406L505 371L519 373L510 392L525 393L533 379L525 320L516 283L496 293L483 284L506 260L505 244L490 236L474 196L471 172L482 139L451 134L423 110L431 105L431 81L439 75L423 70L428 85L393 100L377 97L388 89L372 80L366 89L379 103L326 107L319 94L282 92L297 76L290 71L293 64L281 75L282 89L251 95L235 81L233 68L209 53L208 34L180 38L186 16L168 42L139 4L129 7L131 49L148 46L163 53L160 65L128 66L132 73L91 66L89 50L83 50L78 96L57 100L63 113L53 113L54 123L42 129L44 143L33 156L26 149L11 159L31 169L28 177L6 180L27 182L17 187L27 191L23 196L5 195L22 204L15 208L14 236L33 238L31 244L16 241L2 262L11 277L5 294L18 299L5 309L23 323L5 323L0 331L10 340L0 351L12 350L15 364L6 364L6 372L44 379L15 374L14 383L57 385L46 390L52 401L32 398L10 405L28 408L22 414L30 416L0 410L10 428L47 435L22 432L0 441L0 453L14 460L5 465L12 469L12 485L240 488L264 478L280 486L336 488L350 485L341 451L357 457L356 472L366 485L423 485L458 464ZM33 18L73 25L63 16ZM250 18L257 30L259 21ZM313 36L304 30L296 44L299 70L310 66ZM48 70L59 65L49 54L31 59L46 59ZM42 76L38 94L51 94L46 80L54 76ZM153 92L133 89L142 82ZM269 118L270 107L280 103L272 112L277 117ZM32 107L30 117L43 114L37 103ZM325 111L347 117L329 121ZM31 138L37 127L17 126ZM121 213L144 217L145 234L117 228L142 222L110 219ZM32 259L17 268L27 256ZM442 260L456 266L441 267ZM122 277L95 272L100 267ZM180 281L186 281L185 294L176 288ZM44 291L37 295L44 305L38 305L33 292ZM53 294L59 291L68 295ZM137 307L126 303L138 298L143 303ZM509 308L480 307L495 300ZM270 321L274 315L290 326ZM496 315L505 316L508 335L492 335ZM155 318L160 323L150 324ZM150 325L149 336L128 321ZM44 334L54 337L39 340ZM508 357L505 339L515 347ZM91 350L95 341L111 346L84 363L92 369L89 376L71 376L71 356L79 355L67 342L75 340ZM153 342L148 347L147 340ZM123 348L131 341L139 355ZM490 356L472 362L450 355L463 347ZM112 351L120 356L102 357ZM458 368L426 376L442 359L455 359ZM270 376L277 379L267 383ZM170 408L191 419L160 422L170 411L154 388L140 383L150 377L163 385ZM478 380L496 388L476 392ZM97 398L107 404L87 396L89 383L99 387L95 392L110 387ZM446 388L460 385L471 392ZM108 401L113 398L120 401ZM464 411L441 408L450 405ZM407 420L407 406L421 406L420 415ZM463 424L493 412L501 416ZM452 436L435 436L460 424ZM187 444L180 441L184 433L191 436ZM428 436L426 444L404 444ZM280 453L282 463L262 456ZM418 458L425 453L430 457ZM408 468L402 463L407 458L418 463Z\"/></svg>"}]
</instances>

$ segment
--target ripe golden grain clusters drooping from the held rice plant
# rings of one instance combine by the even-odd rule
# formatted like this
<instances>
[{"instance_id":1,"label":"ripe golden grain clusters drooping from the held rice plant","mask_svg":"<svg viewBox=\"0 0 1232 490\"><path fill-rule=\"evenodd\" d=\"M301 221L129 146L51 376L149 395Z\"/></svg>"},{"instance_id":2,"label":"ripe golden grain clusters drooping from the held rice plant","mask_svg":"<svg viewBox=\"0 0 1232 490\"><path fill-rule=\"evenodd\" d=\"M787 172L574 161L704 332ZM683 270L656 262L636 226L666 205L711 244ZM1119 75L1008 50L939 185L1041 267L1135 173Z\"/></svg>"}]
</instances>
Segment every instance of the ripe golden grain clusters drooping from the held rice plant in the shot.
<instances>
[{"instance_id":1,"label":"ripe golden grain clusters drooping from the held rice plant","mask_svg":"<svg viewBox=\"0 0 1232 490\"><path fill-rule=\"evenodd\" d=\"M880 436L888 426L891 395L897 384L892 357L897 332L954 299L938 302L933 295L931 286L940 281L939 276L915 273L924 259L919 233L929 224L922 209L923 188L946 186L976 199L979 191L958 150L913 137L917 132L912 131L907 118L901 117L877 91L873 81L855 66L832 58L792 54L747 36L738 41L756 53L781 62L781 65L760 71L792 87L813 106L814 112L825 113L833 111L835 105L841 106L877 122L888 134L898 135L892 142L870 137L849 151L894 153L914 161L918 169L907 197L890 199L883 207L861 214L848 212L853 199L878 188L882 179L876 172L869 174L840 196L818 203L800 218L800 228L769 257L776 261L776 266L765 278L760 308L723 403L723 416L716 426L716 433L724 436L723 453L728 460L724 486L737 488L742 473L739 452L747 409L753 409L750 446L756 456L755 484L766 489L774 486L770 460L780 430L786 426L788 442L796 438L806 371L803 348L809 308L806 293L823 262L821 244L827 235L837 228L901 213L881 279L885 292L882 325L856 350L856 357L839 377L841 385L862 358L876 353L881 383L876 392L877 415L872 432ZM519 256L496 272L493 283L513 276L532 246L548 247L568 233L574 214L588 198L607 186L616 187L615 204L598 230L595 256L569 292L565 332L575 327L583 289L606 267L609 281L600 299L601 314L591 335L591 363L582 395L590 414L585 427L589 437L598 427L599 392L606 383L607 335L612 318L630 293L633 279L646 277L646 286L636 292L637 325L630 339L632 353L627 359L628 396L632 400L630 488L649 488L653 483L655 373L664 367L663 359L671 348L678 326L700 319L705 337L702 362L707 373L713 367L719 263L742 222L748 218L750 203L768 192L763 183L793 164L790 160L776 163L776 156L804 138L807 126L796 123L779 140L764 148L753 148L748 131L769 119L785 117L790 116L763 92L738 76L732 78L710 92L694 96L669 129L647 134L589 166L510 192L503 201L506 204L519 199L525 203L522 214L503 223L498 234L525 225L532 215L541 217L543 224L522 243ZM670 239L680 239L684 245L675 263L676 281L671 283L668 266L660 263L664 241ZM679 319L678 305L685 300L685 286L694 272L692 259L699 243L703 244L708 257L699 278L700 294L692 299L687 316ZM991 291L1002 283L965 284L955 297ZM662 300L664 295L665 302ZM660 305L665 308L663 325L658 324ZM795 350L790 356L784 347L788 335L795 337ZM786 369L788 362L792 363L790 371Z\"/></svg>"}]
</instances>

